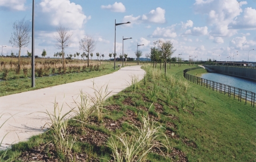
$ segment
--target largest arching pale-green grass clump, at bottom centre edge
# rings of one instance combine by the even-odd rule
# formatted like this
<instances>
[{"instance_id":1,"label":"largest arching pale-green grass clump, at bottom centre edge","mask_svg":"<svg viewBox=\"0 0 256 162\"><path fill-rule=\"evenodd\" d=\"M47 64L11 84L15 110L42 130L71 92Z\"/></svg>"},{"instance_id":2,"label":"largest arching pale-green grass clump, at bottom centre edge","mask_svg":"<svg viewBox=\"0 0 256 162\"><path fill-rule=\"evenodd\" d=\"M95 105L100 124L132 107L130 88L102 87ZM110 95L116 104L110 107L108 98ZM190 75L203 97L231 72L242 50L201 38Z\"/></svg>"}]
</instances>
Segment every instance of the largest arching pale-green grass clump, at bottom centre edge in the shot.
<instances>
[{"instance_id":1,"label":"largest arching pale-green grass clump, at bottom centre edge","mask_svg":"<svg viewBox=\"0 0 256 162\"><path fill-rule=\"evenodd\" d=\"M160 132L161 124L145 116L142 116L141 120L141 127L134 126L135 131L110 136L107 145L112 150L111 156L114 161L147 161L148 153L153 148L159 149L163 155L161 148L166 148L167 153L169 152L170 145L167 136ZM158 142L159 145L156 144Z\"/></svg>"}]
</instances>

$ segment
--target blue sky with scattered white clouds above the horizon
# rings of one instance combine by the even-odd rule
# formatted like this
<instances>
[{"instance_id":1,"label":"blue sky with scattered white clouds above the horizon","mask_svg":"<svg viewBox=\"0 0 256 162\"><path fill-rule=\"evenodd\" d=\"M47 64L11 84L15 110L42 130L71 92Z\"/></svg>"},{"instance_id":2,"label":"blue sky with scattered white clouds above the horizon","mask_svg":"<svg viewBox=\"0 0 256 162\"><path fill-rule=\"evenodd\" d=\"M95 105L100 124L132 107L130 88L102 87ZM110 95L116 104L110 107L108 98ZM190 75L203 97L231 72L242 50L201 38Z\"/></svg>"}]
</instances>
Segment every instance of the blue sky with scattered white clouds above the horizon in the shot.
<instances>
[{"instance_id":1,"label":"blue sky with scattered white clouds above the horizon","mask_svg":"<svg viewBox=\"0 0 256 162\"><path fill-rule=\"evenodd\" d=\"M116 26L116 53L135 58L137 43L142 57L150 53L157 39L170 39L182 59L189 55L195 60L217 59L221 61L256 61L256 1L236 0L162 0L162 1L92 1L92 0L35 0L35 55L47 56L59 52L54 47L56 28L61 24L73 33L66 54L82 53L79 40L92 36L97 44L93 51L114 53L115 19L117 23L131 21L129 25ZM31 22L32 1L1 0L0 2L0 47L4 55L18 52L9 43L14 21ZM21 50L21 55L31 52L31 43ZM238 52L237 52L238 51ZM2 52L2 49L1 49ZM236 55L238 53L238 55ZM235 56L234 56L235 55ZM197 58L195 58L197 56Z\"/></svg>"}]
</instances>

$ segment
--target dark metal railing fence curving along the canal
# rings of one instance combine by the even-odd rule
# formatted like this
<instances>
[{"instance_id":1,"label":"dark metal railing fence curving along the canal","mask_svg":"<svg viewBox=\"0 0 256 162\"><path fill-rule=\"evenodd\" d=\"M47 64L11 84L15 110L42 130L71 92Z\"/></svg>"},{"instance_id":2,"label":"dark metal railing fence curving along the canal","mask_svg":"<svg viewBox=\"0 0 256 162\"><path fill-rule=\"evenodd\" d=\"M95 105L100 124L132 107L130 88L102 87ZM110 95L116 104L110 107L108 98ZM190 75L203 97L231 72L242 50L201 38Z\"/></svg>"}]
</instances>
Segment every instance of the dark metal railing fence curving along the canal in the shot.
<instances>
[{"instance_id":1,"label":"dark metal railing fence curving along the canal","mask_svg":"<svg viewBox=\"0 0 256 162\"><path fill-rule=\"evenodd\" d=\"M195 68L189 68L189 69L183 70L183 77L189 80L190 82L209 88L212 91L216 91L221 94L223 93L225 95L227 94L230 98L232 97L234 99L238 99L238 101L240 102L242 102L243 100L245 101L245 104L247 102L251 102L251 106L254 107L254 103L255 103L254 92L242 90L241 88L229 86L226 84L221 84L218 82L214 82L212 80L203 79L200 77L187 74L188 71L196 70L196 69L202 69L202 67L195 67Z\"/></svg>"}]
</instances>

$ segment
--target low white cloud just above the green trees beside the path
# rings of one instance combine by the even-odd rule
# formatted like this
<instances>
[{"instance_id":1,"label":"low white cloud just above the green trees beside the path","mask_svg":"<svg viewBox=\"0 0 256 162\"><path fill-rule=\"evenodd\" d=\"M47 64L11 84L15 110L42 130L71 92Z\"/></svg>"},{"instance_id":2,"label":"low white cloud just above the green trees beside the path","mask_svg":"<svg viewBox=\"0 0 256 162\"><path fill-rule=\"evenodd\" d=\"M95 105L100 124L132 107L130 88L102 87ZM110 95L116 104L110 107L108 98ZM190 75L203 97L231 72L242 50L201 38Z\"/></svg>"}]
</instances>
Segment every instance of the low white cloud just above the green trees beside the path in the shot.
<instances>
[{"instance_id":1,"label":"low white cloud just above the green trees beside the path","mask_svg":"<svg viewBox=\"0 0 256 162\"><path fill-rule=\"evenodd\" d=\"M160 28L157 27L156 30L154 30L153 34L151 35L151 37L154 38L175 38L177 37L177 34L175 33L175 27L176 25L172 25L170 27L166 27L166 28Z\"/></svg>"}]
</instances>

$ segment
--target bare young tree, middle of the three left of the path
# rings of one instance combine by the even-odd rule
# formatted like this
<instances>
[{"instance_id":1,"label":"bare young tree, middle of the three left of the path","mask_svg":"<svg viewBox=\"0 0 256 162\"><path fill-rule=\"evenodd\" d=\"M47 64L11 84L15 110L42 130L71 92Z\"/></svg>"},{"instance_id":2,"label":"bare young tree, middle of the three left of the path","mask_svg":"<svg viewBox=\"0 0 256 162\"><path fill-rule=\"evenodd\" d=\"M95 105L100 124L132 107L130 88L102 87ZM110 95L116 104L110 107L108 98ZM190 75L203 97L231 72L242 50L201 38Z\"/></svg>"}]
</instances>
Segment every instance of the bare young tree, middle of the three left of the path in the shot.
<instances>
[{"instance_id":1,"label":"bare young tree, middle of the three left of the path","mask_svg":"<svg viewBox=\"0 0 256 162\"><path fill-rule=\"evenodd\" d=\"M57 35L54 35L54 38L57 40L57 43L55 44L55 47L61 49L62 68L64 68L64 50L72 43L71 36L73 34L68 31L68 28L64 28L61 25L56 30Z\"/></svg>"}]
</instances>

